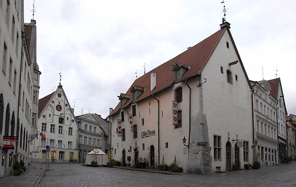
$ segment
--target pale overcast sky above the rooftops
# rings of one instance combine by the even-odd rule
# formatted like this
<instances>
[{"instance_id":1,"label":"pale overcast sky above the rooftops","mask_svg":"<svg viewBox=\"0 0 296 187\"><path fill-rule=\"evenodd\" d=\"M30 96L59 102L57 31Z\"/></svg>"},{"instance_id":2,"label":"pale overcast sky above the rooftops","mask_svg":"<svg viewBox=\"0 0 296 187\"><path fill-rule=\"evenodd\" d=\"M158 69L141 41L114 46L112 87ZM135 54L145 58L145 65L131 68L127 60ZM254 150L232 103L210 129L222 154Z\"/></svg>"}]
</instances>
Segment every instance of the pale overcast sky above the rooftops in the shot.
<instances>
[{"instance_id":1,"label":"pale overcast sky above the rooftops","mask_svg":"<svg viewBox=\"0 0 296 187\"><path fill-rule=\"evenodd\" d=\"M75 115L107 117L132 82L220 29L222 0L36 0L42 98L62 85ZM250 80L281 78L296 114L296 1L225 0ZM33 0L25 0L30 23Z\"/></svg>"}]
</instances>

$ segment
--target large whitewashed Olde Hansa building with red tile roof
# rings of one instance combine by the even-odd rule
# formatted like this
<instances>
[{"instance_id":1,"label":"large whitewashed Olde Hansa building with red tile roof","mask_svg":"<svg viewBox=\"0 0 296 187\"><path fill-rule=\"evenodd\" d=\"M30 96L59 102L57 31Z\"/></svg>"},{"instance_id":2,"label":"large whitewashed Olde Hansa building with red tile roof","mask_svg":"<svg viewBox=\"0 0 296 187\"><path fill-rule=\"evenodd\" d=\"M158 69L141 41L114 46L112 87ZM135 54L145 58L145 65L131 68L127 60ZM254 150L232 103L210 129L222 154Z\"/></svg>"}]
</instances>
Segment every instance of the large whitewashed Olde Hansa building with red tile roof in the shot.
<instances>
[{"instance_id":1,"label":"large whitewashed Olde Hansa building with red tile roof","mask_svg":"<svg viewBox=\"0 0 296 187\"><path fill-rule=\"evenodd\" d=\"M184 171L196 173L253 164L251 84L229 26L223 23L221 30L138 78L118 96L120 102L108 116L115 160L135 165L145 158L148 166L155 166L176 158ZM176 125L173 101L178 102Z\"/></svg>"}]
</instances>

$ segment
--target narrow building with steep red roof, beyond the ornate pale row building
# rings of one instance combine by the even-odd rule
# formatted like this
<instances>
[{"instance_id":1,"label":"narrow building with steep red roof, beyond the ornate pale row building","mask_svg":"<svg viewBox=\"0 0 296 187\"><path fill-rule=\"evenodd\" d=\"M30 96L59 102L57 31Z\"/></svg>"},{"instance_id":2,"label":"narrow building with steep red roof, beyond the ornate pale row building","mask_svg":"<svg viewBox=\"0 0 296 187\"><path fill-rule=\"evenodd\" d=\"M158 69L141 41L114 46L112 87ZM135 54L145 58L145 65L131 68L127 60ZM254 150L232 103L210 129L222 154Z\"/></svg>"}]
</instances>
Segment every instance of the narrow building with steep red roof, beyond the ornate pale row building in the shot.
<instances>
[{"instance_id":1,"label":"narrow building with steep red roof, beyond the ornate pale row building","mask_svg":"<svg viewBox=\"0 0 296 187\"><path fill-rule=\"evenodd\" d=\"M278 103L275 104L276 115L277 115L277 124L278 124L278 158L279 162L283 163L287 154L287 128L286 128L286 115L287 109L284 99L284 93L282 89L281 79L267 80L271 86L270 94L278 100ZM274 106L274 104L273 104Z\"/></svg>"}]
</instances>

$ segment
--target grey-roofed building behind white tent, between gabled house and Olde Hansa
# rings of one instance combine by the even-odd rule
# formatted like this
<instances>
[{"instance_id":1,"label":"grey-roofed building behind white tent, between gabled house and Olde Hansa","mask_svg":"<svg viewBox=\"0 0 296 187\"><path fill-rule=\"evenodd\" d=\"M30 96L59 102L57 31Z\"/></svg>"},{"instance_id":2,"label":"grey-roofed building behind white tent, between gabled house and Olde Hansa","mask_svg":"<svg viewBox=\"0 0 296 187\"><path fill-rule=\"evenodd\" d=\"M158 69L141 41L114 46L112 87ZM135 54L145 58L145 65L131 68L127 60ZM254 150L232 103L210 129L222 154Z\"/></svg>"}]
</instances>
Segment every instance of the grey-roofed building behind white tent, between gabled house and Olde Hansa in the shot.
<instances>
[{"instance_id":1,"label":"grey-roofed building behind white tent, between gabled house and Olde Hansa","mask_svg":"<svg viewBox=\"0 0 296 187\"><path fill-rule=\"evenodd\" d=\"M85 162L86 154L94 149L101 149L105 153L108 153L108 133L104 126L108 122L101 118L98 114L84 114L75 116L78 123L78 151L79 151L79 162ZM100 118L102 120L100 120Z\"/></svg>"}]
</instances>

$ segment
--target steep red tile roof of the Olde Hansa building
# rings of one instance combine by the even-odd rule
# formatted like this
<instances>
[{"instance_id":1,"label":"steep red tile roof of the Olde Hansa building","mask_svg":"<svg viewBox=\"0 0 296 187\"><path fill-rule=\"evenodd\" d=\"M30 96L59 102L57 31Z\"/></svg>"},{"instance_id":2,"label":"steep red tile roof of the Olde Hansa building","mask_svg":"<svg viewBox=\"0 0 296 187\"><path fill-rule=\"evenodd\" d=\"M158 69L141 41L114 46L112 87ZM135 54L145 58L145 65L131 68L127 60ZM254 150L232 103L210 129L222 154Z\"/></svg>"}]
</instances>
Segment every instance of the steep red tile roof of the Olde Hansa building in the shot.
<instances>
[{"instance_id":1,"label":"steep red tile roof of the Olde Hansa building","mask_svg":"<svg viewBox=\"0 0 296 187\"><path fill-rule=\"evenodd\" d=\"M169 61L161 64L160 66L156 67L155 69L149 71L147 74L143 75L142 77L136 79L132 85L138 85L142 87L146 87L146 91L144 91L134 103L155 94L174 83L175 81L175 72L172 71L172 64L176 62L181 63L185 67L189 67L186 73L179 79L177 82L183 81L188 79L192 76L200 74L201 70L207 63L208 59L211 57L212 53L214 52L217 44L219 43L222 35L227 29L221 29L214 33L213 35L209 36L208 38L204 39L200 43L196 44L192 48L186 50L185 52L179 54L178 56L170 59ZM230 34L230 33L229 33ZM150 73L156 73L156 87L155 89L150 92ZM132 87L132 86L130 86ZM126 92L128 95L132 95L130 89ZM132 102L130 99L122 108L128 106ZM114 108L109 116L116 113L120 109L120 102ZM108 117L109 117L108 116Z\"/></svg>"}]
</instances>

